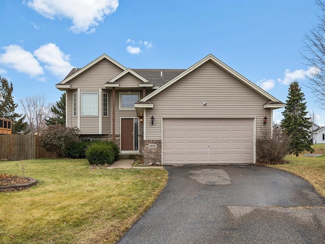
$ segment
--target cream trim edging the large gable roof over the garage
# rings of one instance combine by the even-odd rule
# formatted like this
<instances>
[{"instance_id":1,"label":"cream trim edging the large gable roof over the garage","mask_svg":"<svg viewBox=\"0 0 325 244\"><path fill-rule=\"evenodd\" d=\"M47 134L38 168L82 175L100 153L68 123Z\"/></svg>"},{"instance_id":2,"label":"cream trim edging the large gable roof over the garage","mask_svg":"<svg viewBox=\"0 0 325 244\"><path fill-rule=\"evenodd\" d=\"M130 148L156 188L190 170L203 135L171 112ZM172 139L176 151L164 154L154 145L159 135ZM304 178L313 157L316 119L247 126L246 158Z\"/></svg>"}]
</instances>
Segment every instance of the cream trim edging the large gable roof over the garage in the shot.
<instances>
[{"instance_id":1,"label":"cream trim edging the large gable roof over the garage","mask_svg":"<svg viewBox=\"0 0 325 244\"><path fill-rule=\"evenodd\" d=\"M259 95L261 95L261 96L269 99L271 101L272 105L273 105L272 106L273 108L280 108L280 107L283 107L284 106L284 103L282 103L281 101L277 100L275 97L273 97L272 95L270 95L269 93L267 93L261 87L255 85L253 82L251 82L250 80L246 79L244 76L242 76L241 74L239 74L238 72L236 72L235 70L233 70L232 68L230 68L229 66L227 66L226 64L222 63L219 59L217 59L212 54L207 55L206 57L204 57L203 59L201 59L198 63L192 65L187 70L185 70L184 72L182 72L181 74L179 74L178 76L176 76L175 78L173 78L172 80L168 81L164 85L160 86L158 89L156 89L154 92L150 93L148 96L144 97L140 101L141 102L148 101L150 98L154 97L156 94L160 93L161 91L163 91L164 89L166 89L170 85L174 84L179 79L183 78L185 75L189 74L193 70L196 70L197 68L199 68L201 65L205 64L208 61L211 61L216 66L218 66L219 68L221 68L222 70L224 70L225 72L229 73L233 77L237 78L239 81L243 82L248 87L250 87L251 89L255 90L255 92L257 92Z\"/></svg>"}]
</instances>

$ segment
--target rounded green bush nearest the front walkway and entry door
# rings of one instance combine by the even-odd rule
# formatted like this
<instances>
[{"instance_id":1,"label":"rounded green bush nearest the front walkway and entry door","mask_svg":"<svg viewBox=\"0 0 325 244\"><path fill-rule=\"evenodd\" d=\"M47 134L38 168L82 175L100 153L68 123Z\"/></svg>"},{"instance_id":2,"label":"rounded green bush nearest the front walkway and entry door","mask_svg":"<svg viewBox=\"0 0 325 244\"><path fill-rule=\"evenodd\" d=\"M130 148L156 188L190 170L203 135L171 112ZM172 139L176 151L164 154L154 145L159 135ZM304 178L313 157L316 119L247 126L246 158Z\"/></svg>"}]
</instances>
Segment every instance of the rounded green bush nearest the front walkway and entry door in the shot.
<instances>
[{"instance_id":1,"label":"rounded green bush nearest the front walkway and entry door","mask_svg":"<svg viewBox=\"0 0 325 244\"><path fill-rule=\"evenodd\" d=\"M87 146L86 159L90 164L108 164L114 162L114 150L108 143L101 141Z\"/></svg>"}]
</instances>

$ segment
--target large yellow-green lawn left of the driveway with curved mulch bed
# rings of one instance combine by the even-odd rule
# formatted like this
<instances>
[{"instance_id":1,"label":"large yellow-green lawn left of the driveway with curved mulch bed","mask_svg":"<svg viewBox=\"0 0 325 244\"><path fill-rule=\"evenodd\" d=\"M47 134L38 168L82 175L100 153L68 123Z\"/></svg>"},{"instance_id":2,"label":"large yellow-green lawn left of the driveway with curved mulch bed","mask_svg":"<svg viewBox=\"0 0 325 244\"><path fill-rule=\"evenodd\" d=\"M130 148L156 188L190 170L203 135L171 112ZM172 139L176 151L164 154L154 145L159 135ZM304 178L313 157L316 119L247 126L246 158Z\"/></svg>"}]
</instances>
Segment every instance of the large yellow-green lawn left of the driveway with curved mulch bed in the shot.
<instances>
[{"instance_id":1,"label":"large yellow-green lawn left of the driveway with curved mulch bed","mask_svg":"<svg viewBox=\"0 0 325 244\"><path fill-rule=\"evenodd\" d=\"M166 186L166 170L90 169L87 160L0 161L38 184L0 192L0 243L115 243Z\"/></svg>"}]
</instances>

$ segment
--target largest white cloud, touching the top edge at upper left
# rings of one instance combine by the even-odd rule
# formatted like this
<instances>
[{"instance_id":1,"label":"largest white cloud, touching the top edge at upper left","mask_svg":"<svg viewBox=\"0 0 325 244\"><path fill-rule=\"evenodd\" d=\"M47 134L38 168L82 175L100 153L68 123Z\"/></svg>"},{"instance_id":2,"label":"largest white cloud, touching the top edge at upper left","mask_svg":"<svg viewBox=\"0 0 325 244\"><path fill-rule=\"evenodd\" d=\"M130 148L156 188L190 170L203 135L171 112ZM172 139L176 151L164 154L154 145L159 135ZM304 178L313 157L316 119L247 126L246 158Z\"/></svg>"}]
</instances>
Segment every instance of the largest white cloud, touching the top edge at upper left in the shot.
<instances>
[{"instance_id":1,"label":"largest white cloud, touching the top edge at upper left","mask_svg":"<svg viewBox=\"0 0 325 244\"><path fill-rule=\"evenodd\" d=\"M118 0L26 0L28 7L34 9L49 19L68 18L73 25L71 31L93 33L99 22L103 22L106 15L114 13L118 7Z\"/></svg>"}]
</instances>

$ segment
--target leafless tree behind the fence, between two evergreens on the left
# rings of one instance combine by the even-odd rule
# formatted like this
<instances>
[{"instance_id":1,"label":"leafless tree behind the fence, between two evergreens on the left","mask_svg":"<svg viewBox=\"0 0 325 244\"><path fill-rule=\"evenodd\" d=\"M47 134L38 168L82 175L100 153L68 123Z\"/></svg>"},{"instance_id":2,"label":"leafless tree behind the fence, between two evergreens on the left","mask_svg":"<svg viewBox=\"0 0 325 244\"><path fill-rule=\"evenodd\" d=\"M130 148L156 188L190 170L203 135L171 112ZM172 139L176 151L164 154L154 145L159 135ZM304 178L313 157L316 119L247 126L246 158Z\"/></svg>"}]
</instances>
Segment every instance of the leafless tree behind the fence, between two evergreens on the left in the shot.
<instances>
[{"instance_id":1,"label":"leafless tree behind the fence, between two evergreens on the left","mask_svg":"<svg viewBox=\"0 0 325 244\"><path fill-rule=\"evenodd\" d=\"M44 95L34 95L19 100L26 119L32 131L37 131L39 134L44 128L46 119L51 114L51 104L46 104L46 97Z\"/></svg>"}]
</instances>

